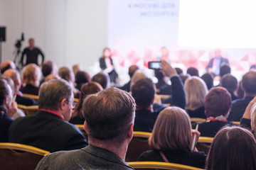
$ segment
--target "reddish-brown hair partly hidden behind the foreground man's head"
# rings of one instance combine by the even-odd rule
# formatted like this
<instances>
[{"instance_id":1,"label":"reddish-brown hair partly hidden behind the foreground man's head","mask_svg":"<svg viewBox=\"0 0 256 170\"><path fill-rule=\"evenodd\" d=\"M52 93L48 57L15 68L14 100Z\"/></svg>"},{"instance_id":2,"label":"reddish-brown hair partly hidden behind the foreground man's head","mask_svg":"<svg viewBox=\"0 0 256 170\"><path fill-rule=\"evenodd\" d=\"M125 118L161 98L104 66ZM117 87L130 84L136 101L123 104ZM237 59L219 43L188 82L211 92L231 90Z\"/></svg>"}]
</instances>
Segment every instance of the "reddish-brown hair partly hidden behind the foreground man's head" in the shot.
<instances>
[{"instance_id":1,"label":"reddish-brown hair partly hidden behind the foreground man's head","mask_svg":"<svg viewBox=\"0 0 256 170\"><path fill-rule=\"evenodd\" d=\"M83 118L82 102L85 100L86 96L88 96L89 94L96 94L99 91L102 91L102 86L100 86L100 84L98 84L97 82L92 81L90 83L83 84L81 87L81 95L77 105L75 106L75 110L72 117Z\"/></svg>"}]
</instances>

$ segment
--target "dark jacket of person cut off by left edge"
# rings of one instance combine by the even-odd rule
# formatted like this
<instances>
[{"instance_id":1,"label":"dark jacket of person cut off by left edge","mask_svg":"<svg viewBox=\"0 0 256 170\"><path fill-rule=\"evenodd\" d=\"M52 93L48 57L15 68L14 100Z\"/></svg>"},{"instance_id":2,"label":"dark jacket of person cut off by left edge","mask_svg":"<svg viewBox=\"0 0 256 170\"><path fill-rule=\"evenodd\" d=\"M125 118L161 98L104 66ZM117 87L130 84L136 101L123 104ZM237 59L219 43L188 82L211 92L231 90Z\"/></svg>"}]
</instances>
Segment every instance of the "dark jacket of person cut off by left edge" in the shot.
<instances>
[{"instance_id":1,"label":"dark jacket of person cut off by left edge","mask_svg":"<svg viewBox=\"0 0 256 170\"><path fill-rule=\"evenodd\" d=\"M8 130L12 122L6 114L6 109L0 107L0 142L8 142Z\"/></svg>"}]
</instances>

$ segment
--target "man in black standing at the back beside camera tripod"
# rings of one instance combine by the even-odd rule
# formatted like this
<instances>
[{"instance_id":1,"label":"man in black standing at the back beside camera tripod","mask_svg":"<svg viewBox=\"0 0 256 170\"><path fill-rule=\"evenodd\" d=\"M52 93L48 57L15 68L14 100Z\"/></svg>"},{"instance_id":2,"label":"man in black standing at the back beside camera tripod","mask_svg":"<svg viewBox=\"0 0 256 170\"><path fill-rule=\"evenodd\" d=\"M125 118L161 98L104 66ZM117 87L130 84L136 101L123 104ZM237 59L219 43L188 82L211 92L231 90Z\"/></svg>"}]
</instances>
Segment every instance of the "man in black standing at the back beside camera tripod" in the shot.
<instances>
[{"instance_id":1,"label":"man in black standing at the back beside camera tripod","mask_svg":"<svg viewBox=\"0 0 256 170\"><path fill-rule=\"evenodd\" d=\"M38 47L35 47L35 40L33 38L30 38L28 40L29 43L29 47L26 47L21 55L21 65L22 67L30 64L30 63L34 63L38 65L38 55L42 56L42 62L41 64L43 64L44 61L44 55L43 52L41 52L41 50ZM26 55L26 64L23 64L23 60L24 60L24 55Z\"/></svg>"}]
</instances>

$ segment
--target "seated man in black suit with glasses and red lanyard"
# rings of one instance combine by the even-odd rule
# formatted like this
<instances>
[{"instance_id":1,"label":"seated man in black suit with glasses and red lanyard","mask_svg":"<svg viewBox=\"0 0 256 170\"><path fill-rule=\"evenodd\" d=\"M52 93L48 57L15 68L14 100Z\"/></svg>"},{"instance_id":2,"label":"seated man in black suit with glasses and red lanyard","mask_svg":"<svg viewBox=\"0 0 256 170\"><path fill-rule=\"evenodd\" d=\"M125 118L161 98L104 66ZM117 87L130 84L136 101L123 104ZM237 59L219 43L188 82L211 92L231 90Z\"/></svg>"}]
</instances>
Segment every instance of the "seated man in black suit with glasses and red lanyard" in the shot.
<instances>
[{"instance_id":1,"label":"seated man in black suit with glasses and red lanyard","mask_svg":"<svg viewBox=\"0 0 256 170\"><path fill-rule=\"evenodd\" d=\"M65 80L42 84L38 113L14 120L9 129L9 142L31 145L50 152L86 147L87 141L82 132L68 123L73 100L72 89Z\"/></svg>"}]
</instances>

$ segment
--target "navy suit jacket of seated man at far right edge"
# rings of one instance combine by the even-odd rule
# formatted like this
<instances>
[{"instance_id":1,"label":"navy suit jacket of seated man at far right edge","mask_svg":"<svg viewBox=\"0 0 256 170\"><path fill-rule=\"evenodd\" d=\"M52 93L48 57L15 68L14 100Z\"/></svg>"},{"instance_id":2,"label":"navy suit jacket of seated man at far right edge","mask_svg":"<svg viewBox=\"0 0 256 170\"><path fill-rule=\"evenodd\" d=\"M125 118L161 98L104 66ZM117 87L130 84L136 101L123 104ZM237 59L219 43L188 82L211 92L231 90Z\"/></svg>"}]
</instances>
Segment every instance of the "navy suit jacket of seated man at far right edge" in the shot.
<instances>
[{"instance_id":1,"label":"navy suit jacket of seated man at far right edge","mask_svg":"<svg viewBox=\"0 0 256 170\"><path fill-rule=\"evenodd\" d=\"M245 113L245 109L252 101L253 97L248 96L245 98L238 98L232 102L230 114L228 115L228 120L230 121L240 121L242 115Z\"/></svg>"}]
</instances>

